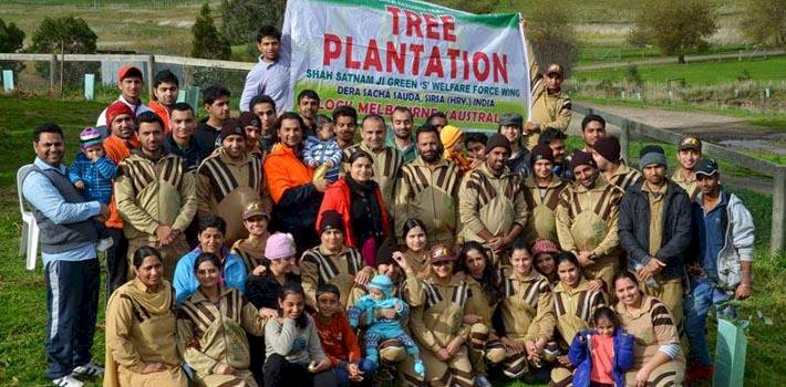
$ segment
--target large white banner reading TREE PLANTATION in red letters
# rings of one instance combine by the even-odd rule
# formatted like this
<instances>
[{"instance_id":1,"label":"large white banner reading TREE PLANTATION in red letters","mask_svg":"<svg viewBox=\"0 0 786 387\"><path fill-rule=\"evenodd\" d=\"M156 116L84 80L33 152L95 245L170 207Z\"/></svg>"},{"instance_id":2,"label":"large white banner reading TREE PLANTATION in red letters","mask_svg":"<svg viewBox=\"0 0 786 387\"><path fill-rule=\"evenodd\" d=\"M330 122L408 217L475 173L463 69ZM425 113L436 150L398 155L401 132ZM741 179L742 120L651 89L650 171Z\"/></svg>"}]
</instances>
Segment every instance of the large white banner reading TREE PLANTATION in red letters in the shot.
<instances>
[{"instance_id":1,"label":"large white banner reading TREE PLANTATION in red letters","mask_svg":"<svg viewBox=\"0 0 786 387\"><path fill-rule=\"evenodd\" d=\"M499 115L529 109L519 14L470 14L410 0L289 0L283 43L297 96L321 109L352 105L387 116L399 105L435 112L465 129L496 130Z\"/></svg>"}]
</instances>

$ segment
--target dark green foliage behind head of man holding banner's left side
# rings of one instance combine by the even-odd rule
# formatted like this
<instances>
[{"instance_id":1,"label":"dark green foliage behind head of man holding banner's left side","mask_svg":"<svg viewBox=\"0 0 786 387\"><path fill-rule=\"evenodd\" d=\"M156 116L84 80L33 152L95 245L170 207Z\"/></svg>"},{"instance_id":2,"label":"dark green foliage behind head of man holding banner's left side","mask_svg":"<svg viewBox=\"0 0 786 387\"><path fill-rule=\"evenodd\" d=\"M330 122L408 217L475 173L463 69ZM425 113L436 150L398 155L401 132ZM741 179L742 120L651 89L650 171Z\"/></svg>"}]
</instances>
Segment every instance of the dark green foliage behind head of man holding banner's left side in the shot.
<instances>
[{"instance_id":1,"label":"dark green foliage behind head of man holding banner's left side","mask_svg":"<svg viewBox=\"0 0 786 387\"><path fill-rule=\"evenodd\" d=\"M261 25L281 28L286 8L286 0L224 0L219 6L221 31L231 44L256 42Z\"/></svg>"}]
</instances>

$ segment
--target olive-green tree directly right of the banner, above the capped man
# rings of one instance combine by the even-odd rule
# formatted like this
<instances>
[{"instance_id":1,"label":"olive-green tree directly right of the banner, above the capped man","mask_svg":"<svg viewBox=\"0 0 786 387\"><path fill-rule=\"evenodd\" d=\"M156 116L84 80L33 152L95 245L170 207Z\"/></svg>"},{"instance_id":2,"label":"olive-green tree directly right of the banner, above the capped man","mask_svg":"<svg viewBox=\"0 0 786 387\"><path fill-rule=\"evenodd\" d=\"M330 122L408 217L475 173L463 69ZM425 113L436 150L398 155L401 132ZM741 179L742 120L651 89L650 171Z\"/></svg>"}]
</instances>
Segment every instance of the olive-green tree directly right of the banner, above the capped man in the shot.
<instances>
[{"instance_id":1,"label":"olive-green tree directly right of the banner, above the capped man","mask_svg":"<svg viewBox=\"0 0 786 387\"><path fill-rule=\"evenodd\" d=\"M559 63L569 76L579 54L579 41L573 28L571 9L565 1L534 0L525 14L525 32L535 56L545 70L548 63Z\"/></svg>"}]
</instances>

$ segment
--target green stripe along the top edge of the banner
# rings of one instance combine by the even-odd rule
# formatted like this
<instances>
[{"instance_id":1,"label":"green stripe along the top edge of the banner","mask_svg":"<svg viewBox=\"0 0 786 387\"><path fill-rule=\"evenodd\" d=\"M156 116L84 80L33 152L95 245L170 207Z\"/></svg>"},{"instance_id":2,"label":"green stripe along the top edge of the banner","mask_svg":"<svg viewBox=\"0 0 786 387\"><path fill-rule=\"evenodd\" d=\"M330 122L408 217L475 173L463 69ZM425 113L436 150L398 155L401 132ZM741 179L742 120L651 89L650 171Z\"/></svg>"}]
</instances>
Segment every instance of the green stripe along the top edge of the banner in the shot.
<instances>
[{"instance_id":1,"label":"green stripe along the top edge of the banner","mask_svg":"<svg viewBox=\"0 0 786 387\"><path fill-rule=\"evenodd\" d=\"M348 7L363 7L379 11L385 11L386 6L394 6L405 10L416 12L434 13L436 15L449 14L456 18L456 21L483 24L494 29L511 29L518 28L518 13L489 13L474 14L459 10L454 10L447 7L431 4L421 1L411 0L311 0L313 2L322 2Z\"/></svg>"}]
</instances>

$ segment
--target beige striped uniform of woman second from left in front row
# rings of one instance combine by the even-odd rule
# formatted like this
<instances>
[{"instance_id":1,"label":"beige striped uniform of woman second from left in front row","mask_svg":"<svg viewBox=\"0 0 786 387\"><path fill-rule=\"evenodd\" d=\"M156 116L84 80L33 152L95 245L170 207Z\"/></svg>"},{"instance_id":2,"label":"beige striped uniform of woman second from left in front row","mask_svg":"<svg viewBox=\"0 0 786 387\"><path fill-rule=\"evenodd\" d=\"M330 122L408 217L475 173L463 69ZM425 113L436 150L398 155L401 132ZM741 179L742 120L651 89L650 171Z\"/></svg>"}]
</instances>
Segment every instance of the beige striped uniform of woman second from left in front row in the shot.
<instances>
[{"instance_id":1,"label":"beige striped uniform of woman second from left in front row","mask_svg":"<svg viewBox=\"0 0 786 387\"><path fill-rule=\"evenodd\" d=\"M201 292L188 297L178 311L177 334L183 357L196 373L194 381L199 386L256 387L248 369L251 355L246 332L262 336L265 323L237 289L221 289L218 305ZM235 368L235 374L217 374L220 364Z\"/></svg>"}]
</instances>

